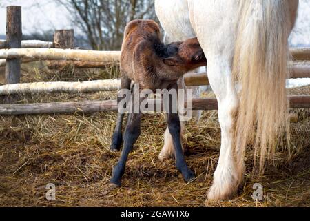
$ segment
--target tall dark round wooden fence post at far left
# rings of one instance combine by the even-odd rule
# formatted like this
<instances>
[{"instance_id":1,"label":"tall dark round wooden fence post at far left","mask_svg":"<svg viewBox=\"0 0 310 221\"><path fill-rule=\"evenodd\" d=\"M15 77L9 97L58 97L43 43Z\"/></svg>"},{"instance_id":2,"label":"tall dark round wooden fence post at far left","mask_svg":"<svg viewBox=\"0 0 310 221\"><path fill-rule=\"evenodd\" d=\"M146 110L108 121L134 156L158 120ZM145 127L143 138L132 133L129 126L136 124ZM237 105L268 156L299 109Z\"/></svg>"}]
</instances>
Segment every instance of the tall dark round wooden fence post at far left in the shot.
<instances>
[{"instance_id":1,"label":"tall dark round wooden fence post at far left","mask_svg":"<svg viewBox=\"0 0 310 221\"><path fill-rule=\"evenodd\" d=\"M8 6L6 20L6 48L21 48L21 6ZM17 84L21 79L21 59L6 59L6 84Z\"/></svg>"}]
</instances>

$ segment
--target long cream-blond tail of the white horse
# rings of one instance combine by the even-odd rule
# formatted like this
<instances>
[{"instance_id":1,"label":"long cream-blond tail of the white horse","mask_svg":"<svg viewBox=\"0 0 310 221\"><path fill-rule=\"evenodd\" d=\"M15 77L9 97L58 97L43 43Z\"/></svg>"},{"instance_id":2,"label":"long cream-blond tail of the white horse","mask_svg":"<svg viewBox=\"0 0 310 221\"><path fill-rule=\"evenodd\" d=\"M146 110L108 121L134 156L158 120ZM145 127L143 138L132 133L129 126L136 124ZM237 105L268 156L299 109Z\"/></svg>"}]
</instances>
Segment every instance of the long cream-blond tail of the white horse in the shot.
<instances>
[{"instance_id":1,"label":"long cream-blond tail of the white horse","mask_svg":"<svg viewBox=\"0 0 310 221\"><path fill-rule=\"evenodd\" d=\"M240 5L233 73L242 92L234 150L242 167L247 143L254 142L262 172L283 132L289 135L285 80L291 21L287 1L241 1Z\"/></svg>"}]
</instances>

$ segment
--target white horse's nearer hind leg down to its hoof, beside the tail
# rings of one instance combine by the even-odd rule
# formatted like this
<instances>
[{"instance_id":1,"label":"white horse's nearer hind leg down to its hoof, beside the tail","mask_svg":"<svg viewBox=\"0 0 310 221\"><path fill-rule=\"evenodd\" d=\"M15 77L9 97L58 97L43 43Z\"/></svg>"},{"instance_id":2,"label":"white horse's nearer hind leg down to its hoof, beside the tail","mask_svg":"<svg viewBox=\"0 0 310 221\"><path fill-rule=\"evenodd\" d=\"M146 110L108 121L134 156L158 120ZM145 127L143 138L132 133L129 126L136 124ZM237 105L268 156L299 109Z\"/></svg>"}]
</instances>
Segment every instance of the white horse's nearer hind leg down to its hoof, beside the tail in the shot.
<instances>
[{"instance_id":1,"label":"white horse's nearer hind leg down to its hoof, beside the tail","mask_svg":"<svg viewBox=\"0 0 310 221\"><path fill-rule=\"evenodd\" d=\"M229 59L225 59L225 56L214 59L211 57L209 61L211 61L209 81L218 99L218 120L222 140L220 158L208 199L224 200L236 193L243 175L243 168L240 168L242 165L240 153L234 152L234 124L238 111L238 97L231 79Z\"/></svg>"}]
</instances>

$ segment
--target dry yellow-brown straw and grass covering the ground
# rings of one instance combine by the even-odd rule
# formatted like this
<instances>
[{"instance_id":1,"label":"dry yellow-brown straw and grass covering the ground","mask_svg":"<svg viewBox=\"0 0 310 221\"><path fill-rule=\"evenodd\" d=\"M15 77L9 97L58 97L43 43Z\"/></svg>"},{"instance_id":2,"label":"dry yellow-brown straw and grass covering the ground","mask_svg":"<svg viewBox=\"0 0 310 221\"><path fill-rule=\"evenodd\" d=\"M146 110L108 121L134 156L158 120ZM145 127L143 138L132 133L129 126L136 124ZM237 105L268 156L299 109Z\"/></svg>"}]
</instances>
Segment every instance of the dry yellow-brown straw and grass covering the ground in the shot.
<instances>
[{"instance_id":1,"label":"dry yellow-brown straw and grass covering the ground","mask_svg":"<svg viewBox=\"0 0 310 221\"><path fill-rule=\"evenodd\" d=\"M70 69L50 73L28 66L24 67L23 81L102 79L116 74L117 70ZM309 94L309 87L302 93ZM22 97L20 102L115 96L48 94ZM207 204L206 193L220 151L216 111L205 111L200 122L187 124L186 160L197 176L190 184L183 182L174 160L157 159L163 146L164 115L145 115L143 133L130 154L121 189L108 187L119 157L119 153L109 151L116 113L0 117L0 206L310 206L310 114L295 112L298 122L291 126L293 161L287 162L287 153L278 153L275 166L269 166L264 176L255 177L249 151L245 183L238 195L233 200ZM262 202L251 199L256 182L265 187ZM55 201L45 200L48 183L56 184Z\"/></svg>"}]
</instances>

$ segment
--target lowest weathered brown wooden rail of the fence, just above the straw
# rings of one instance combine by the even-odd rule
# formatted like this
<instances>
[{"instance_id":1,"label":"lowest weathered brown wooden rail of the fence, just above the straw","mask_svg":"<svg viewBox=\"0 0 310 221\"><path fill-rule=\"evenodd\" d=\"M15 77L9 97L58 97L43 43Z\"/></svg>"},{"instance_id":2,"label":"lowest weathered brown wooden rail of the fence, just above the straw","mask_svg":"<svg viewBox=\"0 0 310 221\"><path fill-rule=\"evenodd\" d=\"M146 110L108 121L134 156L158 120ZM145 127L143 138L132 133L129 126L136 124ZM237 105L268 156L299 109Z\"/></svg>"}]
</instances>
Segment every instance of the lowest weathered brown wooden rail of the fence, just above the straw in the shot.
<instances>
[{"instance_id":1,"label":"lowest weathered brown wooden rail of the fence, just above the straw","mask_svg":"<svg viewBox=\"0 0 310 221\"><path fill-rule=\"evenodd\" d=\"M289 104L290 108L310 108L310 96L289 97ZM193 110L211 111L218 109L218 103L216 99L193 99L192 107ZM79 111L82 111L83 113L117 111L117 103L114 100L110 100L0 105L0 115L69 114Z\"/></svg>"}]
</instances>

